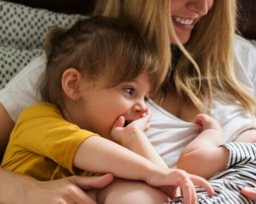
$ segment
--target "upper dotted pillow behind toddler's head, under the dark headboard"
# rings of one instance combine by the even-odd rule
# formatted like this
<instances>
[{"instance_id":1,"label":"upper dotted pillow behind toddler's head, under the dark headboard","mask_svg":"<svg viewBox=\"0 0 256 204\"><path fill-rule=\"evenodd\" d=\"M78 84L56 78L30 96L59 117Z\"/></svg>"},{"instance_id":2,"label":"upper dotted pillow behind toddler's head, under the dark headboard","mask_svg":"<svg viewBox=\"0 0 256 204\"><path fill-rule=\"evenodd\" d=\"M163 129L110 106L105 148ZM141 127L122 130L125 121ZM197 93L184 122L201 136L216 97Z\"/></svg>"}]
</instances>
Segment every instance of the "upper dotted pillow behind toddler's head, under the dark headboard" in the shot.
<instances>
[{"instance_id":1,"label":"upper dotted pillow behind toddler's head, under the dark headboard","mask_svg":"<svg viewBox=\"0 0 256 204\"><path fill-rule=\"evenodd\" d=\"M71 27L79 17L0 1L0 45L22 49L42 48L49 27Z\"/></svg>"}]
</instances>

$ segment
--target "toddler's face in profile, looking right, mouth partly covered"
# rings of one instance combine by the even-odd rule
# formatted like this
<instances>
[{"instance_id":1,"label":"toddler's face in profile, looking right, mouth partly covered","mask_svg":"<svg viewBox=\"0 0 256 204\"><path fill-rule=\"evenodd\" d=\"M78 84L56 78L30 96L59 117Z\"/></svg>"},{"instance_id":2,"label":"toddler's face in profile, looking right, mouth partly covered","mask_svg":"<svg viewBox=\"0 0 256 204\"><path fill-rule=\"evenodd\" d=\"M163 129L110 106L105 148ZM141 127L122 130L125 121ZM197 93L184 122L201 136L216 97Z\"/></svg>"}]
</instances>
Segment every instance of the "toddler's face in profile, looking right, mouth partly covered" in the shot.
<instances>
[{"instance_id":1,"label":"toddler's face in profile, looking right, mouth partly covered","mask_svg":"<svg viewBox=\"0 0 256 204\"><path fill-rule=\"evenodd\" d=\"M119 116L126 122L138 120L146 112L145 99L150 91L147 74L112 88L93 87L81 93L78 103L80 128L110 139L110 131Z\"/></svg>"}]
</instances>

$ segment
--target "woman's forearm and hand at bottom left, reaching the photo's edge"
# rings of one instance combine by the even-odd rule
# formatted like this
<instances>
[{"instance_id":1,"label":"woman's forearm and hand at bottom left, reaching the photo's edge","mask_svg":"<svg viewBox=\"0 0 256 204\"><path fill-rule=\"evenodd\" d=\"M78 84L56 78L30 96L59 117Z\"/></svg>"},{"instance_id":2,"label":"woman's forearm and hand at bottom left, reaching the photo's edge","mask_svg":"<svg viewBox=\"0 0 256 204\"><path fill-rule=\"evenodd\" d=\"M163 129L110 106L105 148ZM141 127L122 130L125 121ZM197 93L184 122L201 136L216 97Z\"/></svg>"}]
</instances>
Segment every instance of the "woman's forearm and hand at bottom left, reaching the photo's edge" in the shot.
<instances>
[{"instance_id":1,"label":"woman's forearm and hand at bottom left, reaching the photo's edge","mask_svg":"<svg viewBox=\"0 0 256 204\"><path fill-rule=\"evenodd\" d=\"M95 204L84 190L103 188L113 180L113 175L107 174L101 177L71 176L53 181L38 181L4 169L1 171L0 177L2 176L6 179L3 182L1 180L0 203L16 204Z\"/></svg>"}]
</instances>

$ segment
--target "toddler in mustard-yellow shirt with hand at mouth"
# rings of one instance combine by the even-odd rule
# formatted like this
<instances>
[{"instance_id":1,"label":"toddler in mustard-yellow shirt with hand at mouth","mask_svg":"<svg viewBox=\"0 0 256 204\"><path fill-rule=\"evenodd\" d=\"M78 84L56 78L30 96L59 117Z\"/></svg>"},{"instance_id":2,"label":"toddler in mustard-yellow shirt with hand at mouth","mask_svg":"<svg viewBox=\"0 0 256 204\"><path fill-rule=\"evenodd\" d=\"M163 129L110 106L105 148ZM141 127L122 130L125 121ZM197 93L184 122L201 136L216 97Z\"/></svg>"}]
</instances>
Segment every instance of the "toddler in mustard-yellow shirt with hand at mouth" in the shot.
<instances>
[{"instance_id":1,"label":"toddler in mustard-yellow shirt with hand at mouth","mask_svg":"<svg viewBox=\"0 0 256 204\"><path fill-rule=\"evenodd\" d=\"M177 186L185 202L194 203L194 184L214 194L203 178L168 169L146 140L145 100L163 77L139 32L94 16L52 29L46 54L40 86L46 103L20 114L3 168L41 181L105 173L121 178L86 192L92 203L163 203Z\"/></svg>"}]
</instances>

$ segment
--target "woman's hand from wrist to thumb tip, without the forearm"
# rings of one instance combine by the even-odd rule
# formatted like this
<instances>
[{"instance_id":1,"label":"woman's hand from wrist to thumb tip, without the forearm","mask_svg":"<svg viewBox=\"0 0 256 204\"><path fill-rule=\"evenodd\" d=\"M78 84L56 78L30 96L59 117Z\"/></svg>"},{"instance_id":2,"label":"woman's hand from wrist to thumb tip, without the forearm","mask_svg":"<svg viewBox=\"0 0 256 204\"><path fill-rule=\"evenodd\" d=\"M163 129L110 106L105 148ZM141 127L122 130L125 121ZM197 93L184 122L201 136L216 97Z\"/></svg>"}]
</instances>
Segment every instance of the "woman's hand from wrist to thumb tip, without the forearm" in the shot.
<instances>
[{"instance_id":1,"label":"woman's hand from wrist to thumb tip, without the forearm","mask_svg":"<svg viewBox=\"0 0 256 204\"><path fill-rule=\"evenodd\" d=\"M84 190L103 188L113 180L111 174L101 177L71 176L54 181L36 181L25 203L89 203L96 204ZM29 202L28 202L29 201ZM16 202L19 203L19 202ZM23 202L20 202L23 204ZM24 204L25 204L24 203Z\"/></svg>"}]
</instances>

